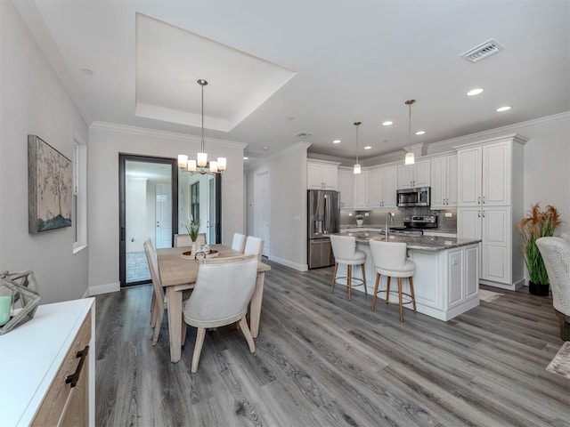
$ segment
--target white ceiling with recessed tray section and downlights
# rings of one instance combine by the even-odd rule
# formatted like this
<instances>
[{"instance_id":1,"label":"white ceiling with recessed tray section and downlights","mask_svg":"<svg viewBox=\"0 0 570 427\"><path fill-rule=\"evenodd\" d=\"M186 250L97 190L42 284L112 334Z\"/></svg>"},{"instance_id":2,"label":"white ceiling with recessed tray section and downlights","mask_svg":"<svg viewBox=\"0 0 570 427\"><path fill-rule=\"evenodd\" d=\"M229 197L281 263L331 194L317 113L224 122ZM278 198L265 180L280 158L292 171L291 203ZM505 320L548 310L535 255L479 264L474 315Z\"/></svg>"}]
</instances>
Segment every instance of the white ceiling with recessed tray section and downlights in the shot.
<instances>
[{"instance_id":1,"label":"white ceiling with recessed tray section and downlights","mask_svg":"<svg viewBox=\"0 0 570 427\"><path fill-rule=\"evenodd\" d=\"M24 3L15 1L28 24L44 21L49 37L38 42L89 124L198 135L196 80L204 78L206 144L247 142L252 158L298 141L311 142L310 153L354 157L357 120L361 159L402 150L411 98L412 131L426 131L411 135L414 145L570 110L569 0ZM159 34L137 34L137 13ZM237 66L188 37L253 62ZM460 58L491 38L504 50L476 63ZM466 96L476 87L485 92ZM137 103L155 118L137 116ZM497 113L503 105L512 109Z\"/></svg>"}]
</instances>

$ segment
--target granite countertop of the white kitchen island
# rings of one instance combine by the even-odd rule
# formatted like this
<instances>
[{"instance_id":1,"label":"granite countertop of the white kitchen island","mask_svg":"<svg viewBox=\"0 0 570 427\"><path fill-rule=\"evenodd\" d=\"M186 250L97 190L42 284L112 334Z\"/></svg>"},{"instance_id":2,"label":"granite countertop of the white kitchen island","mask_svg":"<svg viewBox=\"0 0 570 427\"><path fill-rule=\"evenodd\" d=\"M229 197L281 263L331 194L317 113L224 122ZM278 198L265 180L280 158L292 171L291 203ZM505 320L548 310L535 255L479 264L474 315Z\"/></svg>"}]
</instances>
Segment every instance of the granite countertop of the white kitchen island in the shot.
<instances>
[{"instance_id":1,"label":"granite countertop of the white kitchen island","mask_svg":"<svg viewBox=\"0 0 570 427\"><path fill-rule=\"evenodd\" d=\"M369 232L362 230L359 232L343 232L338 233L339 236L354 236L356 242L362 245L368 245L369 240L384 240L385 236L378 232ZM468 238L442 238L439 236L395 236L390 235L390 242L403 242L408 245L409 249L419 249L422 251L442 251L451 249L452 247L468 246L479 243L481 240L473 240Z\"/></svg>"}]
</instances>

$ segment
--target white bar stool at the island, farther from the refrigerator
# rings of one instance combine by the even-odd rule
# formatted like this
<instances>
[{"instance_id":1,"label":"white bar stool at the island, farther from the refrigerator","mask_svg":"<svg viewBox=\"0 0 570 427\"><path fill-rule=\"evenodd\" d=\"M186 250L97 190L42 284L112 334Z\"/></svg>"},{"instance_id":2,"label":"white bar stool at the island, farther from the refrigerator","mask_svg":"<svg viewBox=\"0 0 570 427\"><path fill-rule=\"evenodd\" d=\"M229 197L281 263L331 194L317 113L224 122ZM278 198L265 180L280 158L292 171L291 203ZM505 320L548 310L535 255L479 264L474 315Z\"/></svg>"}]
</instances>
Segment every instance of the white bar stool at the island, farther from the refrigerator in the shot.
<instances>
[{"instance_id":1,"label":"white bar stool at the island, farther from the refrigerator","mask_svg":"<svg viewBox=\"0 0 570 427\"><path fill-rule=\"evenodd\" d=\"M413 273L416 271L416 263L406 255L405 243L385 242L371 238L370 240L372 260L376 269L376 286L372 297L372 311L376 308L376 297L386 292L386 303L390 303L390 278L398 278L398 305L400 306L400 321L403 322L403 304L412 304L413 312L416 313L416 297L413 293ZM387 276L386 291L379 291L380 276ZM402 278L408 278L410 282L410 294L402 292ZM408 301L403 302L403 296Z\"/></svg>"}]
</instances>

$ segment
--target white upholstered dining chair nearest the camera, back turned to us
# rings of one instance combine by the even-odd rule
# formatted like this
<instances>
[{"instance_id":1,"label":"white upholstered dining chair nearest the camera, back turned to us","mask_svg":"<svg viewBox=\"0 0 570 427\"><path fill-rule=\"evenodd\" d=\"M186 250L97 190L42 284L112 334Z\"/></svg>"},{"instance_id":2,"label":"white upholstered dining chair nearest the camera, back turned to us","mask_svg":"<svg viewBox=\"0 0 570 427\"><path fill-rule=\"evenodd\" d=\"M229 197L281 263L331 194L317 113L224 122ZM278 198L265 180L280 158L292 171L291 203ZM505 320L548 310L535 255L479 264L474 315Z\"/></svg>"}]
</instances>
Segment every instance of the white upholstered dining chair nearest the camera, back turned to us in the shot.
<instances>
[{"instance_id":1,"label":"white upholstered dining chair nearest the camera, back turned to us","mask_svg":"<svg viewBox=\"0 0 570 427\"><path fill-rule=\"evenodd\" d=\"M199 357L207 328L239 322L249 351L256 345L249 331L246 314L256 288L257 256L208 259L199 265L196 286L184 304L184 322L198 328L192 354L191 372L198 371Z\"/></svg>"}]
</instances>

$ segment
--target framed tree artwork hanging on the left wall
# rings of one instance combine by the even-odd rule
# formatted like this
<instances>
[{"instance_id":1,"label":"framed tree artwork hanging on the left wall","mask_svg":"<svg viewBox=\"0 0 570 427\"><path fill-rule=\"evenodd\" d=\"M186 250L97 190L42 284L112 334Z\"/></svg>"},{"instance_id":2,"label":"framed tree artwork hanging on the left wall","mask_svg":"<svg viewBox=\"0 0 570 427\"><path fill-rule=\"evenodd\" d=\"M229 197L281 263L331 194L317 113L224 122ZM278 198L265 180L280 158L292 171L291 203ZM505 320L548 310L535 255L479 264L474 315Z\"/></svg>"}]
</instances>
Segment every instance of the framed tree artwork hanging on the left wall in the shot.
<instances>
[{"instance_id":1,"label":"framed tree artwork hanging on the left wall","mask_svg":"<svg viewBox=\"0 0 570 427\"><path fill-rule=\"evenodd\" d=\"M30 234L71 226L71 160L36 135L28 135Z\"/></svg>"}]
</instances>

